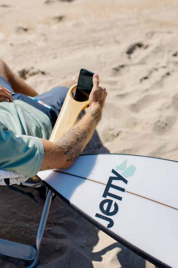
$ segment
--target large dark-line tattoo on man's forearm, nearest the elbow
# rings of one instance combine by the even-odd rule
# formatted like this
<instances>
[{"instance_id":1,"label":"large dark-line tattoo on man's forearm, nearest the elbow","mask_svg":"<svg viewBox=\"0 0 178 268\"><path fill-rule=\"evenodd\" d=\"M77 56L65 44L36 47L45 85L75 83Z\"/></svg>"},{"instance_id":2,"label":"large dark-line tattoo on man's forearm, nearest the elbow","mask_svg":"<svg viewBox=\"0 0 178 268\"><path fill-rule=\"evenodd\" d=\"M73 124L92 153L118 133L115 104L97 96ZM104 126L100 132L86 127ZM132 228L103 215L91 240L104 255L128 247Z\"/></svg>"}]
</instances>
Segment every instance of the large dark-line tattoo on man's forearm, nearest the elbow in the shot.
<instances>
[{"instance_id":1,"label":"large dark-line tattoo on man's forearm, nearest the elbow","mask_svg":"<svg viewBox=\"0 0 178 268\"><path fill-rule=\"evenodd\" d=\"M62 150L67 157L67 161L74 162L86 141L86 131L76 127L69 130L63 137L55 143L57 149Z\"/></svg>"}]
</instances>

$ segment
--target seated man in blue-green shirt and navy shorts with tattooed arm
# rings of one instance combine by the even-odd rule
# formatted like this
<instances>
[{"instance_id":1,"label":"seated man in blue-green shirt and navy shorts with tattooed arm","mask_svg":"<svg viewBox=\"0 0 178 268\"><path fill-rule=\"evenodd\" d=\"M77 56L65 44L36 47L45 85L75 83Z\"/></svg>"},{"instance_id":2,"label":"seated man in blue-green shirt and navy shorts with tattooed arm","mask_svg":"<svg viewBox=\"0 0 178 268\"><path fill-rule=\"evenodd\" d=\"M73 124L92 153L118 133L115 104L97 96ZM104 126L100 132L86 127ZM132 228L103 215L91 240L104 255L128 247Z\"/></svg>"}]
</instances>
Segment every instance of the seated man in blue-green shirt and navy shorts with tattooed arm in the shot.
<instances>
[{"instance_id":1,"label":"seated man in blue-green shirt and navy shorts with tattooed arm","mask_svg":"<svg viewBox=\"0 0 178 268\"><path fill-rule=\"evenodd\" d=\"M36 96L0 60L0 169L33 177L39 170L72 165L101 119L107 92L94 74L89 111L57 142L48 141L67 91L65 84Z\"/></svg>"}]
</instances>

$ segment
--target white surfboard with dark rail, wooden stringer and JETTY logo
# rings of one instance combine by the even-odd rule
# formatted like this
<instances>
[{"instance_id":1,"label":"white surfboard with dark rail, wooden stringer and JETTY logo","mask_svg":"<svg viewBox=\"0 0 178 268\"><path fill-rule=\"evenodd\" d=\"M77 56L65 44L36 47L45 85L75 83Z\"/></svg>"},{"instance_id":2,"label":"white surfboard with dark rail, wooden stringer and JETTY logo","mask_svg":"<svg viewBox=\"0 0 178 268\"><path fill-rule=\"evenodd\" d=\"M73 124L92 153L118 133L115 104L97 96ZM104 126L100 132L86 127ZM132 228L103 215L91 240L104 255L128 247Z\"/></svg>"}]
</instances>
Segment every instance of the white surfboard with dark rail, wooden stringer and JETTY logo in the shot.
<instances>
[{"instance_id":1,"label":"white surfboard with dark rail, wooden stringer and JETTY logo","mask_svg":"<svg viewBox=\"0 0 178 268\"><path fill-rule=\"evenodd\" d=\"M71 208L158 267L178 267L178 162L80 155L69 169L38 173Z\"/></svg>"}]
</instances>

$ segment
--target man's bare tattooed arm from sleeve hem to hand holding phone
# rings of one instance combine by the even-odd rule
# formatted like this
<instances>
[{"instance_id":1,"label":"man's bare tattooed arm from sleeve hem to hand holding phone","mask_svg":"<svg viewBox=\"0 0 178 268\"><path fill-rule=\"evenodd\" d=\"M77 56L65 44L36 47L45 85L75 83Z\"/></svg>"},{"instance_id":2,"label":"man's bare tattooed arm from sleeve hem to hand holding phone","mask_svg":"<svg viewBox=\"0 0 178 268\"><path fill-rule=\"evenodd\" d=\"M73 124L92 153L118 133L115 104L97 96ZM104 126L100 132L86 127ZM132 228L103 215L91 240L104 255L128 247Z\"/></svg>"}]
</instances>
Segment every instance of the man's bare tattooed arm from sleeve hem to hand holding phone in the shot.
<instances>
[{"instance_id":1,"label":"man's bare tattooed arm from sleeve hem to hand holding phone","mask_svg":"<svg viewBox=\"0 0 178 268\"><path fill-rule=\"evenodd\" d=\"M69 168L90 141L101 119L101 113L107 96L106 88L99 86L97 74L93 75L93 89L89 96L89 111L74 127L56 142L42 140L44 158L40 170ZM59 130L60 131L60 130Z\"/></svg>"}]
</instances>

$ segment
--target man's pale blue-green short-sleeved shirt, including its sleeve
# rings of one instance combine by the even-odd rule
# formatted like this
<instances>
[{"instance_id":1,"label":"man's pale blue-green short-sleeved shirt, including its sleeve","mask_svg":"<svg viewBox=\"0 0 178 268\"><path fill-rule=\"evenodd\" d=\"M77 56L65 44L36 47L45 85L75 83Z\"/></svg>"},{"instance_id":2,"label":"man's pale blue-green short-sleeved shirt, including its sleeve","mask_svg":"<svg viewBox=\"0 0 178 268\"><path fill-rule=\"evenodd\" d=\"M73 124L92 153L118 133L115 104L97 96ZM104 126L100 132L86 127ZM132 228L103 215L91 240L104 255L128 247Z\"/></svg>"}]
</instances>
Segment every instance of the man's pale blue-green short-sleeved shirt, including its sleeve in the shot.
<instances>
[{"instance_id":1,"label":"man's pale blue-green short-sleeved shirt, including its sleeve","mask_svg":"<svg viewBox=\"0 0 178 268\"><path fill-rule=\"evenodd\" d=\"M21 100L0 102L0 169L33 177L41 168L50 118Z\"/></svg>"}]
</instances>

